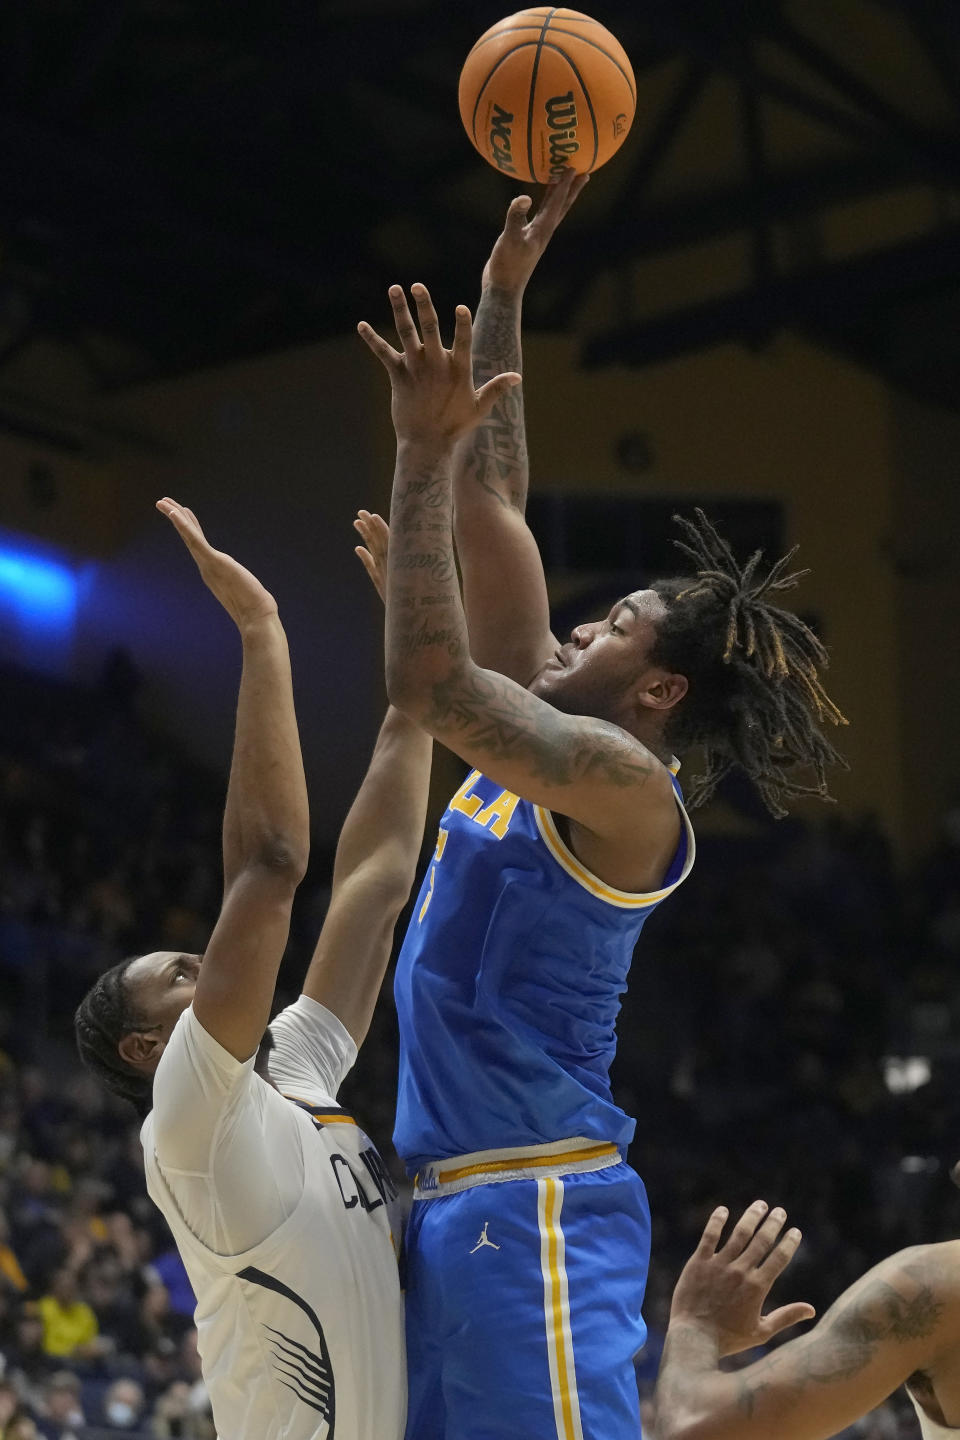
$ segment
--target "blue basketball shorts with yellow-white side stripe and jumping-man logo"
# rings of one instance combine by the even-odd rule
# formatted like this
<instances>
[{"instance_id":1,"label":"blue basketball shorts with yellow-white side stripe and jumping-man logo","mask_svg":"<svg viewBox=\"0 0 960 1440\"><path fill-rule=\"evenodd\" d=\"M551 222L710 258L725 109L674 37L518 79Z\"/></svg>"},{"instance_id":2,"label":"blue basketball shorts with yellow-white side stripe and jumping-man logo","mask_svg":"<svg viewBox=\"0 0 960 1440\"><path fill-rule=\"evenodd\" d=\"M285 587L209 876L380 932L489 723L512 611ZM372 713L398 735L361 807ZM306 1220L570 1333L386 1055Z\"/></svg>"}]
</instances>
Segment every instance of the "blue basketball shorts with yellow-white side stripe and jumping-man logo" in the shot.
<instances>
[{"instance_id":1,"label":"blue basketball shorts with yellow-white side stripe and jumping-man logo","mask_svg":"<svg viewBox=\"0 0 960 1440\"><path fill-rule=\"evenodd\" d=\"M623 1161L415 1200L406 1440L638 1440L649 1248Z\"/></svg>"}]
</instances>

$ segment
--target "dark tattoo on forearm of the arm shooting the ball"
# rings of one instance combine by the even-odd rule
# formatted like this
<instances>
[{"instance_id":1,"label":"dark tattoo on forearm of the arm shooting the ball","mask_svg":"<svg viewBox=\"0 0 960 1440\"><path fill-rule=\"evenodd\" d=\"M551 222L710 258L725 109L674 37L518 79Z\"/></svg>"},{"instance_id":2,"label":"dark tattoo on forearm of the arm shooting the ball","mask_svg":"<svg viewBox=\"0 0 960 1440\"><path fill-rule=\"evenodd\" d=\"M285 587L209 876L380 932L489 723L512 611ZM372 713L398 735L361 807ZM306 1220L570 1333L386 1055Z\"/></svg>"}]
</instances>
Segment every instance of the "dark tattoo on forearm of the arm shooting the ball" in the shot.
<instances>
[{"instance_id":1,"label":"dark tattoo on forearm of the arm shooting the ball","mask_svg":"<svg viewBox=\"0 0 960 1440\"><path fill-rule=\"evenodd\" d=\"M474 383L484 384L504 370L520 370L520 301L488 287L474 325ZM527 504L527 435L522 387L508 390L469 442L468 475L505 510Z\"/></svg>"}]
</instances>

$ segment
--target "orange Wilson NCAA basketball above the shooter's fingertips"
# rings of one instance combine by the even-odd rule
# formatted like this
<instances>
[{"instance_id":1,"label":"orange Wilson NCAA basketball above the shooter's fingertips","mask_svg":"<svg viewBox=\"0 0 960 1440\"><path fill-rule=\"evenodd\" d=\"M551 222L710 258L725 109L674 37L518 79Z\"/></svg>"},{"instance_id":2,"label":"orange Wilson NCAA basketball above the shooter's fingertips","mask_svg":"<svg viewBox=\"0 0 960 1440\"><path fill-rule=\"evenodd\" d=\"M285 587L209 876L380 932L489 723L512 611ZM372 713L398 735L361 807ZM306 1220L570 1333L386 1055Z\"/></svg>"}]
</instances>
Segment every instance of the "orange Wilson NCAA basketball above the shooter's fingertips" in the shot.
<instances>
[{"instance_id":1,"label":"orange Wilson NCAA basketball above the shooter's fingertips","mask_svg":"<svg viewBox=\"0 0 960 1440\"><path fill-rule=\"evenodd\" d=\"M461 120L484 160L518 180L599 170L626 140L626 50L579 10L538 6L492 26L461 71Z\"/></svg>"}]
</instances>

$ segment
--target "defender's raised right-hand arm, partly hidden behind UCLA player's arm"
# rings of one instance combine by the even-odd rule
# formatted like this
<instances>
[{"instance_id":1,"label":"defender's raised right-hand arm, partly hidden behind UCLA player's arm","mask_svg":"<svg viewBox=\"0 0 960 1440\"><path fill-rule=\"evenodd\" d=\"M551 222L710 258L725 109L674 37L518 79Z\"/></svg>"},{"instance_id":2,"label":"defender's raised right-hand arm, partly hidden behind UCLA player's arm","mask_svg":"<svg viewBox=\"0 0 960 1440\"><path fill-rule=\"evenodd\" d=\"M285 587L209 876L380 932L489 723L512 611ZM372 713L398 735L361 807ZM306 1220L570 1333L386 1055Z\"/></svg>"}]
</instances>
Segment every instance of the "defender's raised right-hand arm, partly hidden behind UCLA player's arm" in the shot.
<instances>
[{"instance_id":1,"label":"defender's raised right-hand arm, partly hidden behind UCLA player's arm","mask_svg":"<svg viewBox=\"0 0 960 1440\"><path fill-rule=\"evenodd\" d=\"M357 554L384 599L387 526L366 510L356 524L364 540ZM332 1011L357 1045L370 1027L393 929L416 874L432 753L426 730L391 706L340 832L330 909L304 995Z\"/></svg>"}]
</instances>

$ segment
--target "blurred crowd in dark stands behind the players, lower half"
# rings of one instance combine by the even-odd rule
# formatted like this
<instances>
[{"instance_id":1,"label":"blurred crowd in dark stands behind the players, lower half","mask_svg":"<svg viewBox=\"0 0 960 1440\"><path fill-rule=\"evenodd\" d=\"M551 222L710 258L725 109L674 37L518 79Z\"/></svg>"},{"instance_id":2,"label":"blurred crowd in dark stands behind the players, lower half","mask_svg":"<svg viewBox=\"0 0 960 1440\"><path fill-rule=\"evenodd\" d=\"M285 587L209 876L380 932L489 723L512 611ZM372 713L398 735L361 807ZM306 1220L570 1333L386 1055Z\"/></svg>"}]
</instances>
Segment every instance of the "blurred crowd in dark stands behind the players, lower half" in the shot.
<instances>
[{"instance_id":1,"label":"blurred crowd in dark stands behind the players, lower half","mask_svg":"<svg viewBox=\"0 0 960 1440\"><path fill-rule=\"evenodd\" d=\"M138 685L121 654L89 690L0 674L0 1440L214 1436L135 1117L71 1038L99 971L201 950L219 906L223 778L140 721ZM960 1223L960 801L910 874L869 819L774 825L735 789L721 804L723 834L645 929L619 1027L653 1212L648 1440L672 1284L715 1204L787 1208L805 1241L779 1292L819 1310ZM288 991L330 860L315 852L298 900ZM387 998L344 1092L384 1152L394 1064ZM845 1440L917 1434L900 1397Z\"/></svg>"}]
</instances>

